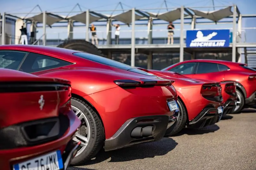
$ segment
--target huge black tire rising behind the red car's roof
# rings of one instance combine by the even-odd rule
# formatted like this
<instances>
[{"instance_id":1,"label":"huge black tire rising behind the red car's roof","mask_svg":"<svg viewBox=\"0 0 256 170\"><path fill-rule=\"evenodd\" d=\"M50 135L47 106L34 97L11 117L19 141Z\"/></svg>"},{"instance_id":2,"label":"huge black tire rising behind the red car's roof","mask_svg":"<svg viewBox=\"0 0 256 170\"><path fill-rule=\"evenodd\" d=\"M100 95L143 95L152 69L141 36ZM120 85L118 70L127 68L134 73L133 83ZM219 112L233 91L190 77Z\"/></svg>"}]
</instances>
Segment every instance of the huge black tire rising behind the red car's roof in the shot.
<instances>
[{"instance_id":1,"label":"huge black tire rising behind the red car's roof","mask_svg":"<svg viewBox=\"0 0 256 170\"><path fill-rule=\"evenodd\" d=\"M57 47L67 48L105 57L104 54L91 42L84 40L66 40Z\"/></svg>"}]
</instances>

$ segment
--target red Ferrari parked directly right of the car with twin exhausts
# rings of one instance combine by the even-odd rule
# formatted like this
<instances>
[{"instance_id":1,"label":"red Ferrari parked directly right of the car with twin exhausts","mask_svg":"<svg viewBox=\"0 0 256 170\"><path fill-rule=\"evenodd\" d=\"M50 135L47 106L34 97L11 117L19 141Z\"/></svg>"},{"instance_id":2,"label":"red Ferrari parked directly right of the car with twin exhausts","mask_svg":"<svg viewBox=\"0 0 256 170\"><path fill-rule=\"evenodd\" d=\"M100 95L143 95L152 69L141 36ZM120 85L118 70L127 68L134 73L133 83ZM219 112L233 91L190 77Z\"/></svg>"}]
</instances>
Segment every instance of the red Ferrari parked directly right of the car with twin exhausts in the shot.
<instances>
[{"instance_id":1,"label":"red Ferrari parked directly right of the car with twin exhausts","mask_svg":"<svg viewBox=\"0 0 256 170\"><path fill-rule=\"evenodd\" d=\"M219 82L198 81L190 78L174 78L158 74L155 70L144 70L156 76L175 80L173 86L178 94L180 115L178 120L166 131L166 135L174 135L182 128L203 128L219 122L223 114L223 99Z\"/></svg>"}]
</instances>

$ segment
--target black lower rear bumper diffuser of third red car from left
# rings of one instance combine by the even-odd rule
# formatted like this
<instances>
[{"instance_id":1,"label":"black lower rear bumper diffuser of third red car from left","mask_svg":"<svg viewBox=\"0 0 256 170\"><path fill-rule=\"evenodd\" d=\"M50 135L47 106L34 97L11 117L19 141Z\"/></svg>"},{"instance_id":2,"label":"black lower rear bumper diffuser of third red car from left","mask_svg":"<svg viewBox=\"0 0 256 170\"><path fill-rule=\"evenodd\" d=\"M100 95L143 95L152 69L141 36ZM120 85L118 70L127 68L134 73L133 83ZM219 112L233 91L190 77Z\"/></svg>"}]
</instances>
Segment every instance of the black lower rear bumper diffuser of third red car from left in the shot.
<instances>
[{"instance_id":1,"label":"black lower rear bumper diffuser of third red car from left","mask_svg":"<svg viewBox=\"0 0 256 170\"><path fill-rule=\"evenodd\" d=\"M218 114L218 109L213 106L205 107L195 119L190 121L187 128L203 128L215 124L222 116Z\"/></svg>"}]
</instances>

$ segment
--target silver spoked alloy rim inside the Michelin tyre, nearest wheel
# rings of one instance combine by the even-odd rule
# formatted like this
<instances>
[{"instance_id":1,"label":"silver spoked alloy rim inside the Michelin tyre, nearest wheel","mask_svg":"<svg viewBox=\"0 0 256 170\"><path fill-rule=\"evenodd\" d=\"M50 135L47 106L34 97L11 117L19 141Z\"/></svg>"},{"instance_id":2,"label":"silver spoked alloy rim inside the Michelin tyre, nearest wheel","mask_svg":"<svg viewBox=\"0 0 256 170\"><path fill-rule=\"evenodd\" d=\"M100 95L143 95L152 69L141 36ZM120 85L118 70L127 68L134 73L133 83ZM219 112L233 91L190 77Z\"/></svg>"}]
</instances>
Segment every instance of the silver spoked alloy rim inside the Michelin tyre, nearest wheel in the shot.
<instances>
[{"instance_id":1,"label":"silver spoked alloy rim inside the Michelin tyre, nearest wheel","mask_svg":"<svg viewBox=\"0 0 256 170\"><path fill-rule=\"evenodd\" d=\"M82 122L82 126L80 127L83 128L84 127L84 131L85 133L83 135L79 134L79 130L76 132L76 137L73 138L73 140L75 142L81 142L81 146L80 149L77 151L76 156L80 155L82 152L84 152L85 148L88 145L88 142L90 140L90 134L91 134L91 130L90 130L90 126L89 126L89 121L86 118L86 116L84 115L84 113L77 107L72 106L71 105L72 110L75 112L76 116L81 120ZM75 156L75 157L76 157Z\"/></svg>"}]
</instances>

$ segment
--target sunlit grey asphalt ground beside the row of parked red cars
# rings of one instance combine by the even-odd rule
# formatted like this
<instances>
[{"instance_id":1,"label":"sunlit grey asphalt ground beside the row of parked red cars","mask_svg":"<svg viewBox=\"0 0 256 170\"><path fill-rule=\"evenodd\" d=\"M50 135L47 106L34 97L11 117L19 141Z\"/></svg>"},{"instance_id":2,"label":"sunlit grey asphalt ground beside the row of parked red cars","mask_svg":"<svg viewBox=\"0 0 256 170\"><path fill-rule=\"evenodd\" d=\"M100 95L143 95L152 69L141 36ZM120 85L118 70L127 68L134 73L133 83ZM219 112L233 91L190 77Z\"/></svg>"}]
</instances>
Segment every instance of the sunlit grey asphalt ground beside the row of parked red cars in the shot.
<instances>
[{"instance_id":1,"label":"sunlit grey asphalt ground beside the row of parked red cars","mask_svg":"<svg viewBox=\"0 0 256 170\"><path fill-rule=\"evenodd\" d=\"M203 130L116 151L68 170L256 170L256 109L226 115Z\"/></svg>"}]
</instances>

